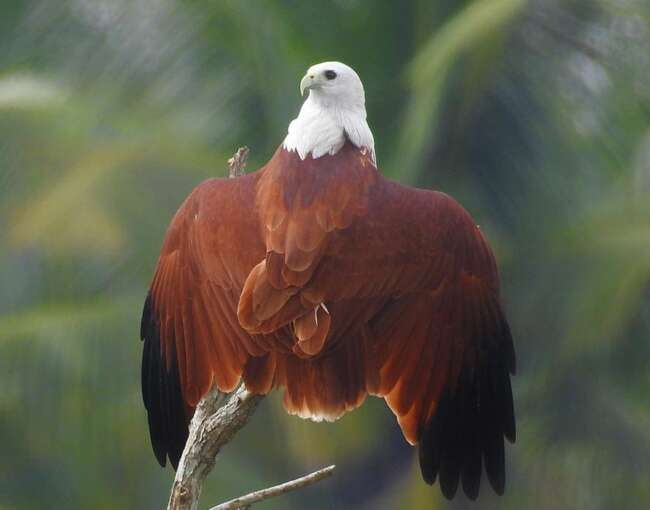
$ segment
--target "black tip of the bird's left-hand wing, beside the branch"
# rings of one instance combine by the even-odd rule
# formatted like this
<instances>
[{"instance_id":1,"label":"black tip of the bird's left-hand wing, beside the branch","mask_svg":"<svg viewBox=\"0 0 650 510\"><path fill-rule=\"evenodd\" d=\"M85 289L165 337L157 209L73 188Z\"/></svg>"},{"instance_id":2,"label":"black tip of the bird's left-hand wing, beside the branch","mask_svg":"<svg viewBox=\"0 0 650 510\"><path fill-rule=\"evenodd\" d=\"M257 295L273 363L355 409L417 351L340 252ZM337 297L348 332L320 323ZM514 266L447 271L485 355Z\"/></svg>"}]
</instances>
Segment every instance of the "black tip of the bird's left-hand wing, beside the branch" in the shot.
<instances>
[{"instance_id":1,"label":"black tip of the bird's left-hand wing, beside the branch","mask_svg":"<svg viewBox=\"0 0 650 510\"><path fill-rule=\"evenodd\" d=\"M151 295L147 295L140 324L144 340L142 400L147 410L149 437L156 460L165 467L169 459L176 469L187 441L189 420L181 393L176 354L172 349L170 368L167 369L157 322L153 300Z\"/></svg>"}]
</instances>

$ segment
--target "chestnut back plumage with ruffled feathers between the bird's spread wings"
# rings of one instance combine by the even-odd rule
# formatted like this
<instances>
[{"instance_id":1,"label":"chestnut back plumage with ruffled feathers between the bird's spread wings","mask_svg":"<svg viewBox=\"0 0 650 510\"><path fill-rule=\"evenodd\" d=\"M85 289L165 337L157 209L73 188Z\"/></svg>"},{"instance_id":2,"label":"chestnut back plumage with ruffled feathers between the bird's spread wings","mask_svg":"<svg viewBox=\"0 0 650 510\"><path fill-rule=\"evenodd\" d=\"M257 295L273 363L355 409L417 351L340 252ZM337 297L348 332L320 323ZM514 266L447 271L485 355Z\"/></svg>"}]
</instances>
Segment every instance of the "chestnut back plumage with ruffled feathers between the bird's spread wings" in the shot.
<instances>
[{"instance_id":1,"label":"chestnut back plumage with ruffled feathers between the bird's spread wings","mask_svg":"<svg viewBox=\"0 0 650 510\"><path fill-rule=\"evenodd\" d=\"M318 159L278 149L260 177L256 206L266 257L244 285L240 323L267 334L292 324L301 357L318 354L329 331L319 296L302 292L338 233L367 211L378 179L371 155L351 144Z\"/></svg>"}]
</instances>

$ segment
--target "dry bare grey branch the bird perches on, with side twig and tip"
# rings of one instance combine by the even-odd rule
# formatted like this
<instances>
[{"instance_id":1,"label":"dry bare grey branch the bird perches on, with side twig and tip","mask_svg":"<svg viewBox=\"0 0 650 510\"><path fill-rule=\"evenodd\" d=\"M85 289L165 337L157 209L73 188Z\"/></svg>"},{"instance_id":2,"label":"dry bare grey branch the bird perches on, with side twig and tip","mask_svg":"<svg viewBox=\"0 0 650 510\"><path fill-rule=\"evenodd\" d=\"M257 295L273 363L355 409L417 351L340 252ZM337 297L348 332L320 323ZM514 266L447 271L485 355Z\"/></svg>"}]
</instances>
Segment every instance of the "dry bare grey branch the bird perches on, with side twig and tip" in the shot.
<instances>
[{"instance_id":1,"label":"dry bare grey branch the bird perches on, with side twig and tip","mask_svg":"<svg viewBox=\"0 0 650 510\"><path fill-rule=\"evenodd\" d=\"M247 159L248 148L241 147L228 160L231 178L244 175ZM239 429L246 425L262 398L262 395L249 393L241 385L229 395L213 388L201 399L190 423L187 443L178 463L167 510L197 509L203 481L214 467L219 450L231 441ZM330 476L333 470L334 466L330 466L297 480L228 501L216 508L220 510L247 508L263 499L322 480ZM232 506L233 502L239 502L238 506Z\"/></svg>"}]
</instances>

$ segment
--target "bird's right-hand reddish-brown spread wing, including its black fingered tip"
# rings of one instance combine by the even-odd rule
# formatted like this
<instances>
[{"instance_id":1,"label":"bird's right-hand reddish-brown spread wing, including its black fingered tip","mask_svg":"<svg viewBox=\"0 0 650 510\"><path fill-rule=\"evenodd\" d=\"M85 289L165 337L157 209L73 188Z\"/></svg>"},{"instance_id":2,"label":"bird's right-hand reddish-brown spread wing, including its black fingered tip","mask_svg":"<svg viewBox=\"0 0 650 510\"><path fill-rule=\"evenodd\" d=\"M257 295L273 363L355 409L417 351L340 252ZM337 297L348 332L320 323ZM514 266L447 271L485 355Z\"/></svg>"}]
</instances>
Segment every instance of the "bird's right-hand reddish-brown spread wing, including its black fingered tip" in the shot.
<instances>
[{"instance_id":1,"label":"bird's right-hand reddish-brown spread wing, including its black fingered tip","mask_svg":"<svg viewBox=\"0 0 650 510\"><path fill-rule=\"evenodd\" d=\"M328 306L345 301L335 324L370 316L361 327L379 373L367 390L386 399L406 439L419 444L427 482L439 475L452 497L462 479L475 498L484 464L503 492L503 439L515 439L515 355L494 257L458 203L382 179L367 214L330 245L302 293Z\"/></svg>"}]
</instances>

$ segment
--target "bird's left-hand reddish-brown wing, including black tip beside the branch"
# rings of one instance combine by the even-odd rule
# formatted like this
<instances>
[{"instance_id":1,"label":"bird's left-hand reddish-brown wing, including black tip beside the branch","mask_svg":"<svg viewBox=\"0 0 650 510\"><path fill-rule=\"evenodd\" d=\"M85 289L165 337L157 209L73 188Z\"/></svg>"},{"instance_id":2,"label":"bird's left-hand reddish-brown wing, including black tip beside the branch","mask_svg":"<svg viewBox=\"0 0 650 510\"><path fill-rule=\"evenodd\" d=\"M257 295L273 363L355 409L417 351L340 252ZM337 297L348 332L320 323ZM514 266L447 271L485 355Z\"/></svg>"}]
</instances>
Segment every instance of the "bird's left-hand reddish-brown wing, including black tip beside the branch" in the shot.
<instances>
[{"instance_id":1,"label":"bird's left-hand reddish-brown wing, including black tip beside the branch","mask_svg":"<svg viewBox=\"0 0 650 510\"><path fill-rule=\"evenodd\" d=\"M264 257L250 208L257 174L206 181L172 220L142 314L142 394L156 457L176 467L199 399L231 391L264 350L237 322L250 269Z\"/></svg>"}]
</instances>

